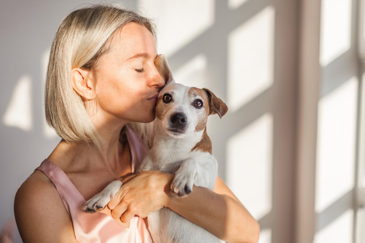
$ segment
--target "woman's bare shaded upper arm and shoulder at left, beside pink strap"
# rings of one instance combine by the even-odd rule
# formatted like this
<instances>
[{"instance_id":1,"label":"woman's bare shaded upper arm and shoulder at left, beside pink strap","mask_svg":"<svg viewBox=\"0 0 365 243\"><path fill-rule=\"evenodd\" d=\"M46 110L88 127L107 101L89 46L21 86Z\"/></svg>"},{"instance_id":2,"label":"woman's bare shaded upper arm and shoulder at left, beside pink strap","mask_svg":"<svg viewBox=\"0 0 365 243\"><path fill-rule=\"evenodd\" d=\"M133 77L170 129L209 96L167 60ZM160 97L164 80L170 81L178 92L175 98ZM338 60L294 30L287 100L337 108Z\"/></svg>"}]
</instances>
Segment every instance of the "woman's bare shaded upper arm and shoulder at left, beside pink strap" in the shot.
<instances>
[{"instance_id":1,"label":"woman's bare shaded upper arm and shoulder at left, beside pink strap","mask_svg":"<svg viewBox=\"0 0 365 243\"><path fill-rule=\"evenodd\" d=\"M77 243L57 189L38 173L42 171L35 171L15 194L14 215L23 242Z\"/></svg>"}]
</instances>

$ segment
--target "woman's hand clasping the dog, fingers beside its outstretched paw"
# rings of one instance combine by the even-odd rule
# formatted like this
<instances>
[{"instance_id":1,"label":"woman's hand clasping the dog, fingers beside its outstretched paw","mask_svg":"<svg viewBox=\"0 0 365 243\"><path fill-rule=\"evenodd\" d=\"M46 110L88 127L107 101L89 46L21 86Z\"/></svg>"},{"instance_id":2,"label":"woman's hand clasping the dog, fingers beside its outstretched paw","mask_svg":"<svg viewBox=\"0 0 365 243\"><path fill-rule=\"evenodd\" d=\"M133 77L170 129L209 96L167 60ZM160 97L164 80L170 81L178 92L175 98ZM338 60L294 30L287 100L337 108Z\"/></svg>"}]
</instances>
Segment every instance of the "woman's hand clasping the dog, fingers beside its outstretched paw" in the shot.
<instances>
[{"instance_id":1,"label":"woman's hand clasping the dog, fingers beside its outstretched paw","mask_svg":"<svg viewBox=\"0 0 365 243\"><path fill-rule=\"evenodd\" d=\"M167 207L173 177L173 174L159 170L141 171L123 177L119 192L100 212L128 225L134 215L145 218L162 207Z\"/></svg>"}]
</instances>

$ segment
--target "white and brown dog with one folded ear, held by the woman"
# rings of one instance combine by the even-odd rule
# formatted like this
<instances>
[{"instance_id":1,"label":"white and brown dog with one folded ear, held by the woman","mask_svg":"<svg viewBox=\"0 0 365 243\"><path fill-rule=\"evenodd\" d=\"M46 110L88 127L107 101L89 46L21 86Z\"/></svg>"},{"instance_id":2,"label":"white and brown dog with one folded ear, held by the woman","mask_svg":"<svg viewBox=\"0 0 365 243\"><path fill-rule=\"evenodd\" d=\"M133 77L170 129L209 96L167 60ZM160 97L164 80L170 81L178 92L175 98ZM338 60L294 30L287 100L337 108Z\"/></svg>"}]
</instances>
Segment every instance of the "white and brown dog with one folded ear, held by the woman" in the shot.
<instances>
[{"instance_id":1,"label":"white and brown dog with one folded ear, held by the woman","mask_svg":"<svg viewBox=\"0 0 365 243\"><path fill-rule=\"evenodd\" d=\"M157 99L157 128L153 147L137 173L160 170L174 174L170 189L175 196L191 193L193 185L213 190L218 164L212 155L206 123L209 115L218 114L222 118L228 107L208 89L176 83L164 55L158 55L154 63L165 79L165 85ZM82 209L96 212L97 208L105 208L121 185L118 180L111 182L102 192L85 202ZM151 213L147 220L154 242L221 242L206 229L167 207Z\"/></svg>"}]
</instances>

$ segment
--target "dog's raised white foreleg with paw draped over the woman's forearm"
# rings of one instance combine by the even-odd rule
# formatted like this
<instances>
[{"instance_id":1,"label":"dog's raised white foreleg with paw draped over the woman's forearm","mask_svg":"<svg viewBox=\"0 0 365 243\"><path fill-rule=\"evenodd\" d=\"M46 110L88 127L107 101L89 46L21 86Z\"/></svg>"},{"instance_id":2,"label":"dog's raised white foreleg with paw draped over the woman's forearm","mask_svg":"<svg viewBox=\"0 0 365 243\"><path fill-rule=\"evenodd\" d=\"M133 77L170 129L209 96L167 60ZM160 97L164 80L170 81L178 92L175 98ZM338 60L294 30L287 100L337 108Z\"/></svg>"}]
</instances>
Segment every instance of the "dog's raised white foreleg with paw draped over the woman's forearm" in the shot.
<instances>
[{"instance_id":1,"label":"dog's raised white foreleg with paw draped over the woman's forearm","mask_svg":"<svg viewBox=\"0 0 365 243\"><path fill-rule=\"evenodd\" d=\"M176 196L184 196L192 192L197 165L197 162L193 158L188 158L181 162L179 169L175 172L174 180L170 185L173 194Z\"/></svg>"}]
</instances>

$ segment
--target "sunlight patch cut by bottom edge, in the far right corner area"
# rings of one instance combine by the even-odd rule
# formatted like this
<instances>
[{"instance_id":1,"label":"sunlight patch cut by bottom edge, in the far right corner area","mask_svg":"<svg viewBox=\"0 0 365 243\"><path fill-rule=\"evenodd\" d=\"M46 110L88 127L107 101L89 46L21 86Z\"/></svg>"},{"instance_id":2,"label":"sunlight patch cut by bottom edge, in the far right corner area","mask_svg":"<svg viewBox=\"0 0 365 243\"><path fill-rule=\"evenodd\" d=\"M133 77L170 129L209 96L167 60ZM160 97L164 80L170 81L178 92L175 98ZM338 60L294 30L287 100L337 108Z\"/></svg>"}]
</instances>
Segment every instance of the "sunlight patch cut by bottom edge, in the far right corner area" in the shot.
<instances>
[{"instance_id":1,"label":"sunlight patch cut by bottom edge, in the far right corner area","mask_svg":"<svg viewBox=\"0 0 365 243\"><path fill-rule=\"evenodd\" d=\"M352 243L353 209L347 209L329 225L316 232L313 243Z\"/></svg>"}]
</instances>

